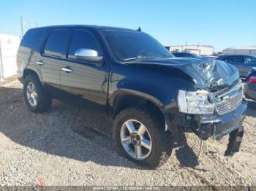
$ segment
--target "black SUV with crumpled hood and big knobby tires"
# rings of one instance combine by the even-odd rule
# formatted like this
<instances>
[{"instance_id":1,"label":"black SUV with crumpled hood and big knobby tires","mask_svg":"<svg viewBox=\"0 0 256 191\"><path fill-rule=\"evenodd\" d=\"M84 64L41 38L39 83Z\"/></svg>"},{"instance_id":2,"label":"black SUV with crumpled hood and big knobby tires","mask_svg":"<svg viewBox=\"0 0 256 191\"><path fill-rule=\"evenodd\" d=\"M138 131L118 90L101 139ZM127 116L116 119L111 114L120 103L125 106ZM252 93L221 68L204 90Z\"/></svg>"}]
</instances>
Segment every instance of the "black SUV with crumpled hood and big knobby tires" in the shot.
<instances>
[{"instance_id":1,"label":"black SUV with crumpled hood and big knobby tires","mask_svg":"<svg viewBox=\"0 0 256 191\"><path fill-rule=\"evenodd\" d=\"M103 112L116 148L137 163L162 165L183 131L230 134L226 155L240 147L246 102L237 69L222 61L173 58L140 30L103 26L30 29L17 61L32 112L48 111L52 98Z\"/></svg>"}]
</instances>

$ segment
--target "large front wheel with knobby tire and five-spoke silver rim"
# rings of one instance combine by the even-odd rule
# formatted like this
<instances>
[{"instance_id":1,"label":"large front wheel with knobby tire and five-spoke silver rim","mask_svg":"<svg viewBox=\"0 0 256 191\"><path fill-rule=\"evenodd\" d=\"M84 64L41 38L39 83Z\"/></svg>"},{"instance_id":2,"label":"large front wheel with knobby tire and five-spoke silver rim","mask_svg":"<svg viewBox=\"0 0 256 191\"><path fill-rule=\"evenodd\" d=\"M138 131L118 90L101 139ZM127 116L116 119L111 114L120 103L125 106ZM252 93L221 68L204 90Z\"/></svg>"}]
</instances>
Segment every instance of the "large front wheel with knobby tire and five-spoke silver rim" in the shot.
<instances>
[{"instance_id":1,"label":"large front wheel with knobby tire and five-spoke silver rim","mask_svg":"<svg viewBox=\"0 0 256 191\"><path fill-rule=\"evenodd\" d=\"M164 120L151 106L132 106L121 111L113 122L113 140L121 155L150 168L163 165L173 149Z\"/></svg>"}]
</instances>

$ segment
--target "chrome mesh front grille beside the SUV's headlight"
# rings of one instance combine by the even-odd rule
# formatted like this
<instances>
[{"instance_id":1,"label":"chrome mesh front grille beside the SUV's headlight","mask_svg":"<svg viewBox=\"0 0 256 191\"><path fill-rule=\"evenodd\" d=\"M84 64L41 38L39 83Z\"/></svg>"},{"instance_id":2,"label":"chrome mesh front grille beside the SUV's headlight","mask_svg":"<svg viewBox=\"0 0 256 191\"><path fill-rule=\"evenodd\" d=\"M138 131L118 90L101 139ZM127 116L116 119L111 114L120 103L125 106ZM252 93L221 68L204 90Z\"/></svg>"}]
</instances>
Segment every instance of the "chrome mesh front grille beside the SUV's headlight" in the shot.
<instances>
[{"instance_id":1,"label":"chrome mesh front grille beside the SUV's headlight","mask_svg":"<svg viewBox=\"0 0 256 191\"><path fill-rule=\"evenodd\" d=\"M231 90L227 93L219 95L218 98L221 100L215 104L215 108L219 114L227 114L232 112L238 106L241 105L243 100L242 83L238 82Z\"/></svg>"}]
</instances>

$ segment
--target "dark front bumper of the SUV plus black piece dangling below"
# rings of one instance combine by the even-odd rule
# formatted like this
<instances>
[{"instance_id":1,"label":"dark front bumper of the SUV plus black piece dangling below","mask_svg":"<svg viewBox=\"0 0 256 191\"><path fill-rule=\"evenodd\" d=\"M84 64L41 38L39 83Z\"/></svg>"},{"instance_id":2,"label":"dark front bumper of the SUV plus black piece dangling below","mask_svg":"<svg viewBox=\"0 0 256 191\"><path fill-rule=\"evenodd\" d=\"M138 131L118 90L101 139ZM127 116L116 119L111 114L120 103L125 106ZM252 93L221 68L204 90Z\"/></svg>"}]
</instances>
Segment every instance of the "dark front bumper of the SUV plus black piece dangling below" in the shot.
<instances>
[{"instance_id":1,"label":"dark front bumper of the SUV plus black piece dangling below","mask_svg":"<svg viewBox=\"0 0 256 191\"><path fill-rule=\"evenodd\" d=\"M236 110L228 114L218 115L189 115L179 114L175 117L165 115L166 128L172 133L176 132L179 127L193 130L200 139L206 140L213 136L214 139L222 139L229 134L230 138L225 151L225 156L233 155L239 151L241 140L244 134L242 122L246 116L247 104L243 99L242 103ZM176 128L173 128L176 127Z\"/></svg>"}]
</instances>

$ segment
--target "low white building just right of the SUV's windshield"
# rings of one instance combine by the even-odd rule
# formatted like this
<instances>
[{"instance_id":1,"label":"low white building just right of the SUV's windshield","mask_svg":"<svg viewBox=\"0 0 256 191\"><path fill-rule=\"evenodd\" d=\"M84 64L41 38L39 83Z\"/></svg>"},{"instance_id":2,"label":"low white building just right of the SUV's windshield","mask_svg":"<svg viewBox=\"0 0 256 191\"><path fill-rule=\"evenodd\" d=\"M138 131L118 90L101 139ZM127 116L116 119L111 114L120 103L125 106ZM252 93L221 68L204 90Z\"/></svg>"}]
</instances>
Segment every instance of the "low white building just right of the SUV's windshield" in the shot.
<instances>
[{"instance_id":1,"label":"low white building just right of the SUV's windshield","mask_svg":"<svg viewBox=\"0 0 256 191\"><path fill-rule=\"evenodd\" d=\"M212 55L214 53L214 47L209 45L177 45L177 46L165 46L170 52L192 52L197 55Z\"/></svg>"}]
</instances>

